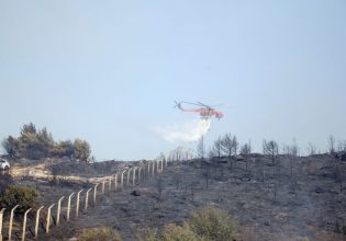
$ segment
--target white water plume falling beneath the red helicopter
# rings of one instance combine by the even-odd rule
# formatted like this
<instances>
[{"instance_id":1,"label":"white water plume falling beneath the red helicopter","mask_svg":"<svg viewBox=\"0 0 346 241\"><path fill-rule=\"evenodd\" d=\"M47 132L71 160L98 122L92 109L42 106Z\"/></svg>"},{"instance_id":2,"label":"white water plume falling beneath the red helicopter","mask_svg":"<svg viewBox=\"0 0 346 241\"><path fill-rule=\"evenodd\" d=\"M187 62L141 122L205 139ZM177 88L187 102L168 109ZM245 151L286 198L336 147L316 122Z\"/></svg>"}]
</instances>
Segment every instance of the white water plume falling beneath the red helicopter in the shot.
<instances>
[{"instance_id":1,"label":"white water plume falling beneath the red helicopter","mask_svg":"<svg viewBox=\"0 0 346 241\"><path fill-rule=\"evenodd\" d=\"M180 126L159 127L156 130L168 141L196 141L210 129L211 119L199 119Z\"/></svg>"}]
</instances>

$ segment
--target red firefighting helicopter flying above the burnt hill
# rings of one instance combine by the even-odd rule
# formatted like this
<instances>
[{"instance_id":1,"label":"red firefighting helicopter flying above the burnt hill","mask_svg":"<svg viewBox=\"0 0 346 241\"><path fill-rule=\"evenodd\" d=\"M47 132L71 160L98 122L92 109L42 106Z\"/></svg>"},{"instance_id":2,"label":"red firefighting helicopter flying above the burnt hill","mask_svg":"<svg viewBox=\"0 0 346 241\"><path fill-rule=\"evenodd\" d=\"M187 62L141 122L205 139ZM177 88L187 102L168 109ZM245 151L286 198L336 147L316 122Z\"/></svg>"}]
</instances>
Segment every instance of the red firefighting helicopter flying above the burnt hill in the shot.
<instances>
[{"instance_id":1,"label":"red firefighting helicopter flying above the burnt hill","mask_svg":"<svg viewBox=\"0 0 346 241\"><path fill-rule=\"evenodd\" d=\"M215 116L220 120L223 117L222 112L216 111L215 108L212 107L212 105L207 105L207 104L203 104L201 102L192 103L192 102L186 102L186 101L180 101L180 102L175 101L175 104L176 104L175 107L178 107L182 112L199 113L200 117L202 119L209 119L209 118ZM182 107L182 104L197 105L197 106L199 106L199 108L185 108L185 107Z\"/></svg>"}]
</instances>

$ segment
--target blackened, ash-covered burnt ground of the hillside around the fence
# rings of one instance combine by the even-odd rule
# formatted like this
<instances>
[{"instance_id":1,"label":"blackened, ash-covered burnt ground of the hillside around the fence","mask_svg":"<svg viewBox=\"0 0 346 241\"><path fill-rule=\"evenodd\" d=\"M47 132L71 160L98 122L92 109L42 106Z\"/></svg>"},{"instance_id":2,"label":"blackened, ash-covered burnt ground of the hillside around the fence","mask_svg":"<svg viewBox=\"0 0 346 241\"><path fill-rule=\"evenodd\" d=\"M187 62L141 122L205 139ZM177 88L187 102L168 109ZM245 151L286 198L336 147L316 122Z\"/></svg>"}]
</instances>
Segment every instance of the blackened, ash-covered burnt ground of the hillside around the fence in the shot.
<instances>
[{"instance_id":1,"label":"blackened, ash-covered burnt ground of the hillside around the fence","mask_svg":"<svg viewBox=\"0 0 346 241\"><path fill-rule=\"evenodd\" d=\"M88 214L82 194L78 219L74 196L71 221L66 222L65 208L62 227L52 227L42 240L69 240L89 227L115 228L124 240L135 240L138 230L182 223L191 210L205 205L234 216L242 240L345 239L339 232L346 223L346 190L337 177L337 170L346 170L345 162L330 156L282 156L275 163L265 157L247 160L247 168L245 160L233 161L232 168L226 159L174 163L149 182L145 177L142 185L100 195ZM44 191L47 205L90 185L25 182Z\"/></svg>"}]
</instances>

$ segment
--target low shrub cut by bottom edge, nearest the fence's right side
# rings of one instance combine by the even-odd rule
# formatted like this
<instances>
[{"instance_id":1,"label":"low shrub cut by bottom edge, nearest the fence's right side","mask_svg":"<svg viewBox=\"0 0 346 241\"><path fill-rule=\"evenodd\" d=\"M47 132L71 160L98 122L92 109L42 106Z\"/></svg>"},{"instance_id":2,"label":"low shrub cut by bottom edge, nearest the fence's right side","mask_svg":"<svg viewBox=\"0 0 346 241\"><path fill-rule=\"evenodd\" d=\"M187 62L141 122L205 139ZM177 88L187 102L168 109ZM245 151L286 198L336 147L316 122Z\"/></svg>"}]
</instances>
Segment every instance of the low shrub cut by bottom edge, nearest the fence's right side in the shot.
<instances>
[{"instance_id":1,"label":"low shrub cut by bottom edge, nearest the fence's right side","mask_svg":"<svg viewBox=\"0 0 346 241\"><path fill-rule=\"evenodd\" d=\"M119 232L110 228L82 229L77 237L78 241L121 241Z\"/></svg>"}]
</instances>

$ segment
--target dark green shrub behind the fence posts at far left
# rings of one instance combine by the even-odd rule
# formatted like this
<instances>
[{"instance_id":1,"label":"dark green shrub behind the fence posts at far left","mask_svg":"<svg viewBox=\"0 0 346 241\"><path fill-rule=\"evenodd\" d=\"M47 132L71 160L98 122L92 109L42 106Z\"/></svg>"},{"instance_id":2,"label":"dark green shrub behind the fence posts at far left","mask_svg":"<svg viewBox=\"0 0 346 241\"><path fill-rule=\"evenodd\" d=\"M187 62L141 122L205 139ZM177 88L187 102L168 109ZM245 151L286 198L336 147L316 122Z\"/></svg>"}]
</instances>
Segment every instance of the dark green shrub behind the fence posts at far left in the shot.
<instances>
[{"instance_id":1,"label":"dark green shrub behind the fence posts at far left","mask_svg":"<svg viewBox=\"0 0 346 241\"><path fill-rule=\"evenodd\" d=\"M10 210L19 205L16 211L24 214L29 208L37 207L38 194L35 190L22 186L9 186L0 198L0 207Z\"/></svg>"}]
</instances>

